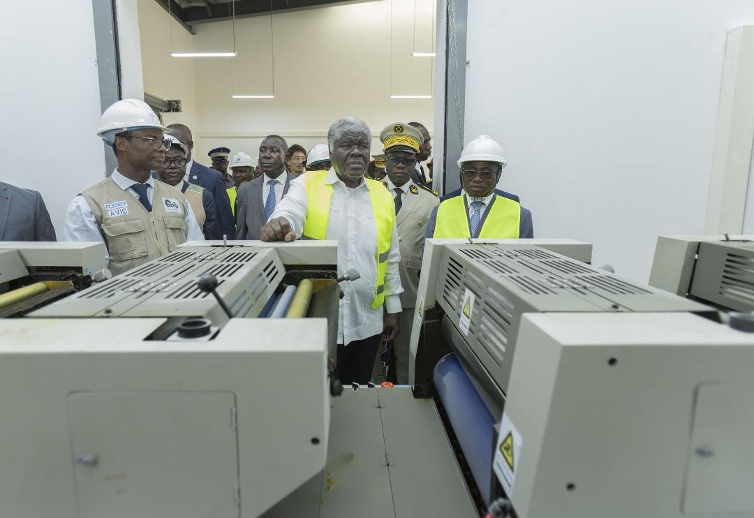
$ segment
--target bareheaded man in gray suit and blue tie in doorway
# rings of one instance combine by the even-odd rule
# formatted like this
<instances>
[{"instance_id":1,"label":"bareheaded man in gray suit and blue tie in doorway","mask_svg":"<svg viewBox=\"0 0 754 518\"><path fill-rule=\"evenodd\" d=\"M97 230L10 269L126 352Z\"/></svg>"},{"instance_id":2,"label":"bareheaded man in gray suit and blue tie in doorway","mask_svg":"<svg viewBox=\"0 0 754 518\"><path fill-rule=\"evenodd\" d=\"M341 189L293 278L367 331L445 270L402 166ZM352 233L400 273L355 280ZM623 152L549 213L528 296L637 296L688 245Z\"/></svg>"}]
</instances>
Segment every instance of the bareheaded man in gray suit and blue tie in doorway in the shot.
<instances>
[{"instance_id":1,"label":"bareheaded man in gray suit and blue tie in doorway","mask_svg":"<svg viewBox=\"0 0 754 518\"><path fill-rule=\"evenodd\" d=\"M288 144L282 136L270 135L259 145L258 176L238 188L236 239L259 239L259 229L274 213L288 192L291 175L285 170Z\"/></svg>"}]
</instances>

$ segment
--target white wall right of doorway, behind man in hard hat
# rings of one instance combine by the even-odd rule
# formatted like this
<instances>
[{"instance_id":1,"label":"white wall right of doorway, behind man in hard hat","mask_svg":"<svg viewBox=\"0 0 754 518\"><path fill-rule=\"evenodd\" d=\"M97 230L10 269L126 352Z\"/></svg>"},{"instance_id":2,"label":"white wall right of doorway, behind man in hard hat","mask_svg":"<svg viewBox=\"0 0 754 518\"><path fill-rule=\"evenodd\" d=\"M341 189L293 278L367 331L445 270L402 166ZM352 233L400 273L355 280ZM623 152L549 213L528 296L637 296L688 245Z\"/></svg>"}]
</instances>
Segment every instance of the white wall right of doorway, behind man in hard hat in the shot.
<instances>
[{"instance_id":1,"label":"white wall right of doorway, behind man in hard hat","mask_svg":"<svg viewBox=\"0 0 754 518\"><path fill-rule=\"evenodd\" d=\"M704 228L725 36L754 2L469 2L466 138L538 237L595 244L645 282L658 234Z\"/></svg>"}]
</instances>

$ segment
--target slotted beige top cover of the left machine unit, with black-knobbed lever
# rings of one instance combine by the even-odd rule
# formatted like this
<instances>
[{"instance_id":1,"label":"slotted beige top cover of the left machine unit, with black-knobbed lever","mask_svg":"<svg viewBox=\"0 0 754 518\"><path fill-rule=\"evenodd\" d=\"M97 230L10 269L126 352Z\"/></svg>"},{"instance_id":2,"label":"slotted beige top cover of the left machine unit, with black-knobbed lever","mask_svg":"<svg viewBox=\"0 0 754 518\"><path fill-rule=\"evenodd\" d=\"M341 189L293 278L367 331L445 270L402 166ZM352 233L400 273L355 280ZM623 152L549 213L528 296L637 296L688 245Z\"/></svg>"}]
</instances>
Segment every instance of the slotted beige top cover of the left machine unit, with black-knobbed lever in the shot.
<instances>
[{"instance_id":1,"label":"slotted beige top cover of the left machine unit, with black-knobbed lever","mask_svg":"<svg viewBox=\"0 0 754 518\"><path fill-rule=\"evenodd\" d=\"M217 277L217 293L237 317L256 317L285 273L271 248L183 247L33 312L32 317L227 317L198 277Z\"/></svg>"}]
</instances>

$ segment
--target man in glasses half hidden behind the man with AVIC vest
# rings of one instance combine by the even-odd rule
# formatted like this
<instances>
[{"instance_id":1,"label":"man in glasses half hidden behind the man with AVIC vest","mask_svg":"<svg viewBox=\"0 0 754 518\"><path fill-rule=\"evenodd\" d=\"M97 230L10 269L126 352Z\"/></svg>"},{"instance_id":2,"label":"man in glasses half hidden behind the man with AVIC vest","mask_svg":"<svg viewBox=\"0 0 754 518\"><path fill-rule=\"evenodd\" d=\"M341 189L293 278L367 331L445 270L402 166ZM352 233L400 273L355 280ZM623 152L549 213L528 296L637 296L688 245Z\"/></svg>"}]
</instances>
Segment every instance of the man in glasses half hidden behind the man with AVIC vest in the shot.
<instances>
[{"instance_id":1,"label":"man in glasses half hidden behind the man with AVIC vest","mask_svg":"<svg viewBox=\"0 0 754 518\"><path fill-rule=\"evenodd\" d=\"M201 185L189 183L183 179L186 170L186 155L189 154L189 150L173 135L166 135L165 139L170 140L170 149L165 152L162 167L156 170L158 180L167 185L173 185L185 195L186 201L194 211L199 228L204 232L205 239L222 239L222 232L217 224L217 206L212 193Z\"/></svg>"}]
</instances>

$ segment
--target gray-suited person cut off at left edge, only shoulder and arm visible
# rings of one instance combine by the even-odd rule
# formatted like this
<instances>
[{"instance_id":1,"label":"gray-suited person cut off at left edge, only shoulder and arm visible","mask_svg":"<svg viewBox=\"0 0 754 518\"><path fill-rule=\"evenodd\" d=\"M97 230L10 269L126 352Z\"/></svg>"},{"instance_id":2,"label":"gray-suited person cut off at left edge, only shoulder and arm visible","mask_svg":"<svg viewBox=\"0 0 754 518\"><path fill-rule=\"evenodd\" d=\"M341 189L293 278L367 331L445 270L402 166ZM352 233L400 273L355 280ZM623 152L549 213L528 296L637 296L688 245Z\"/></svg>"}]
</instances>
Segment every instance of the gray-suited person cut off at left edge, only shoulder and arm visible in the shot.
<instances>
[{"instance_id":1,"label":"gray-suited person cut off at left edge, only shoulder and arm visible","mask_svg":"<svg viewBox=\"0 0 754 518\"><path fill-rule=\"evenodd\" d=\"M38 192L0 182L0 241L57 241Z\"/></svg>"}]
</instances>

